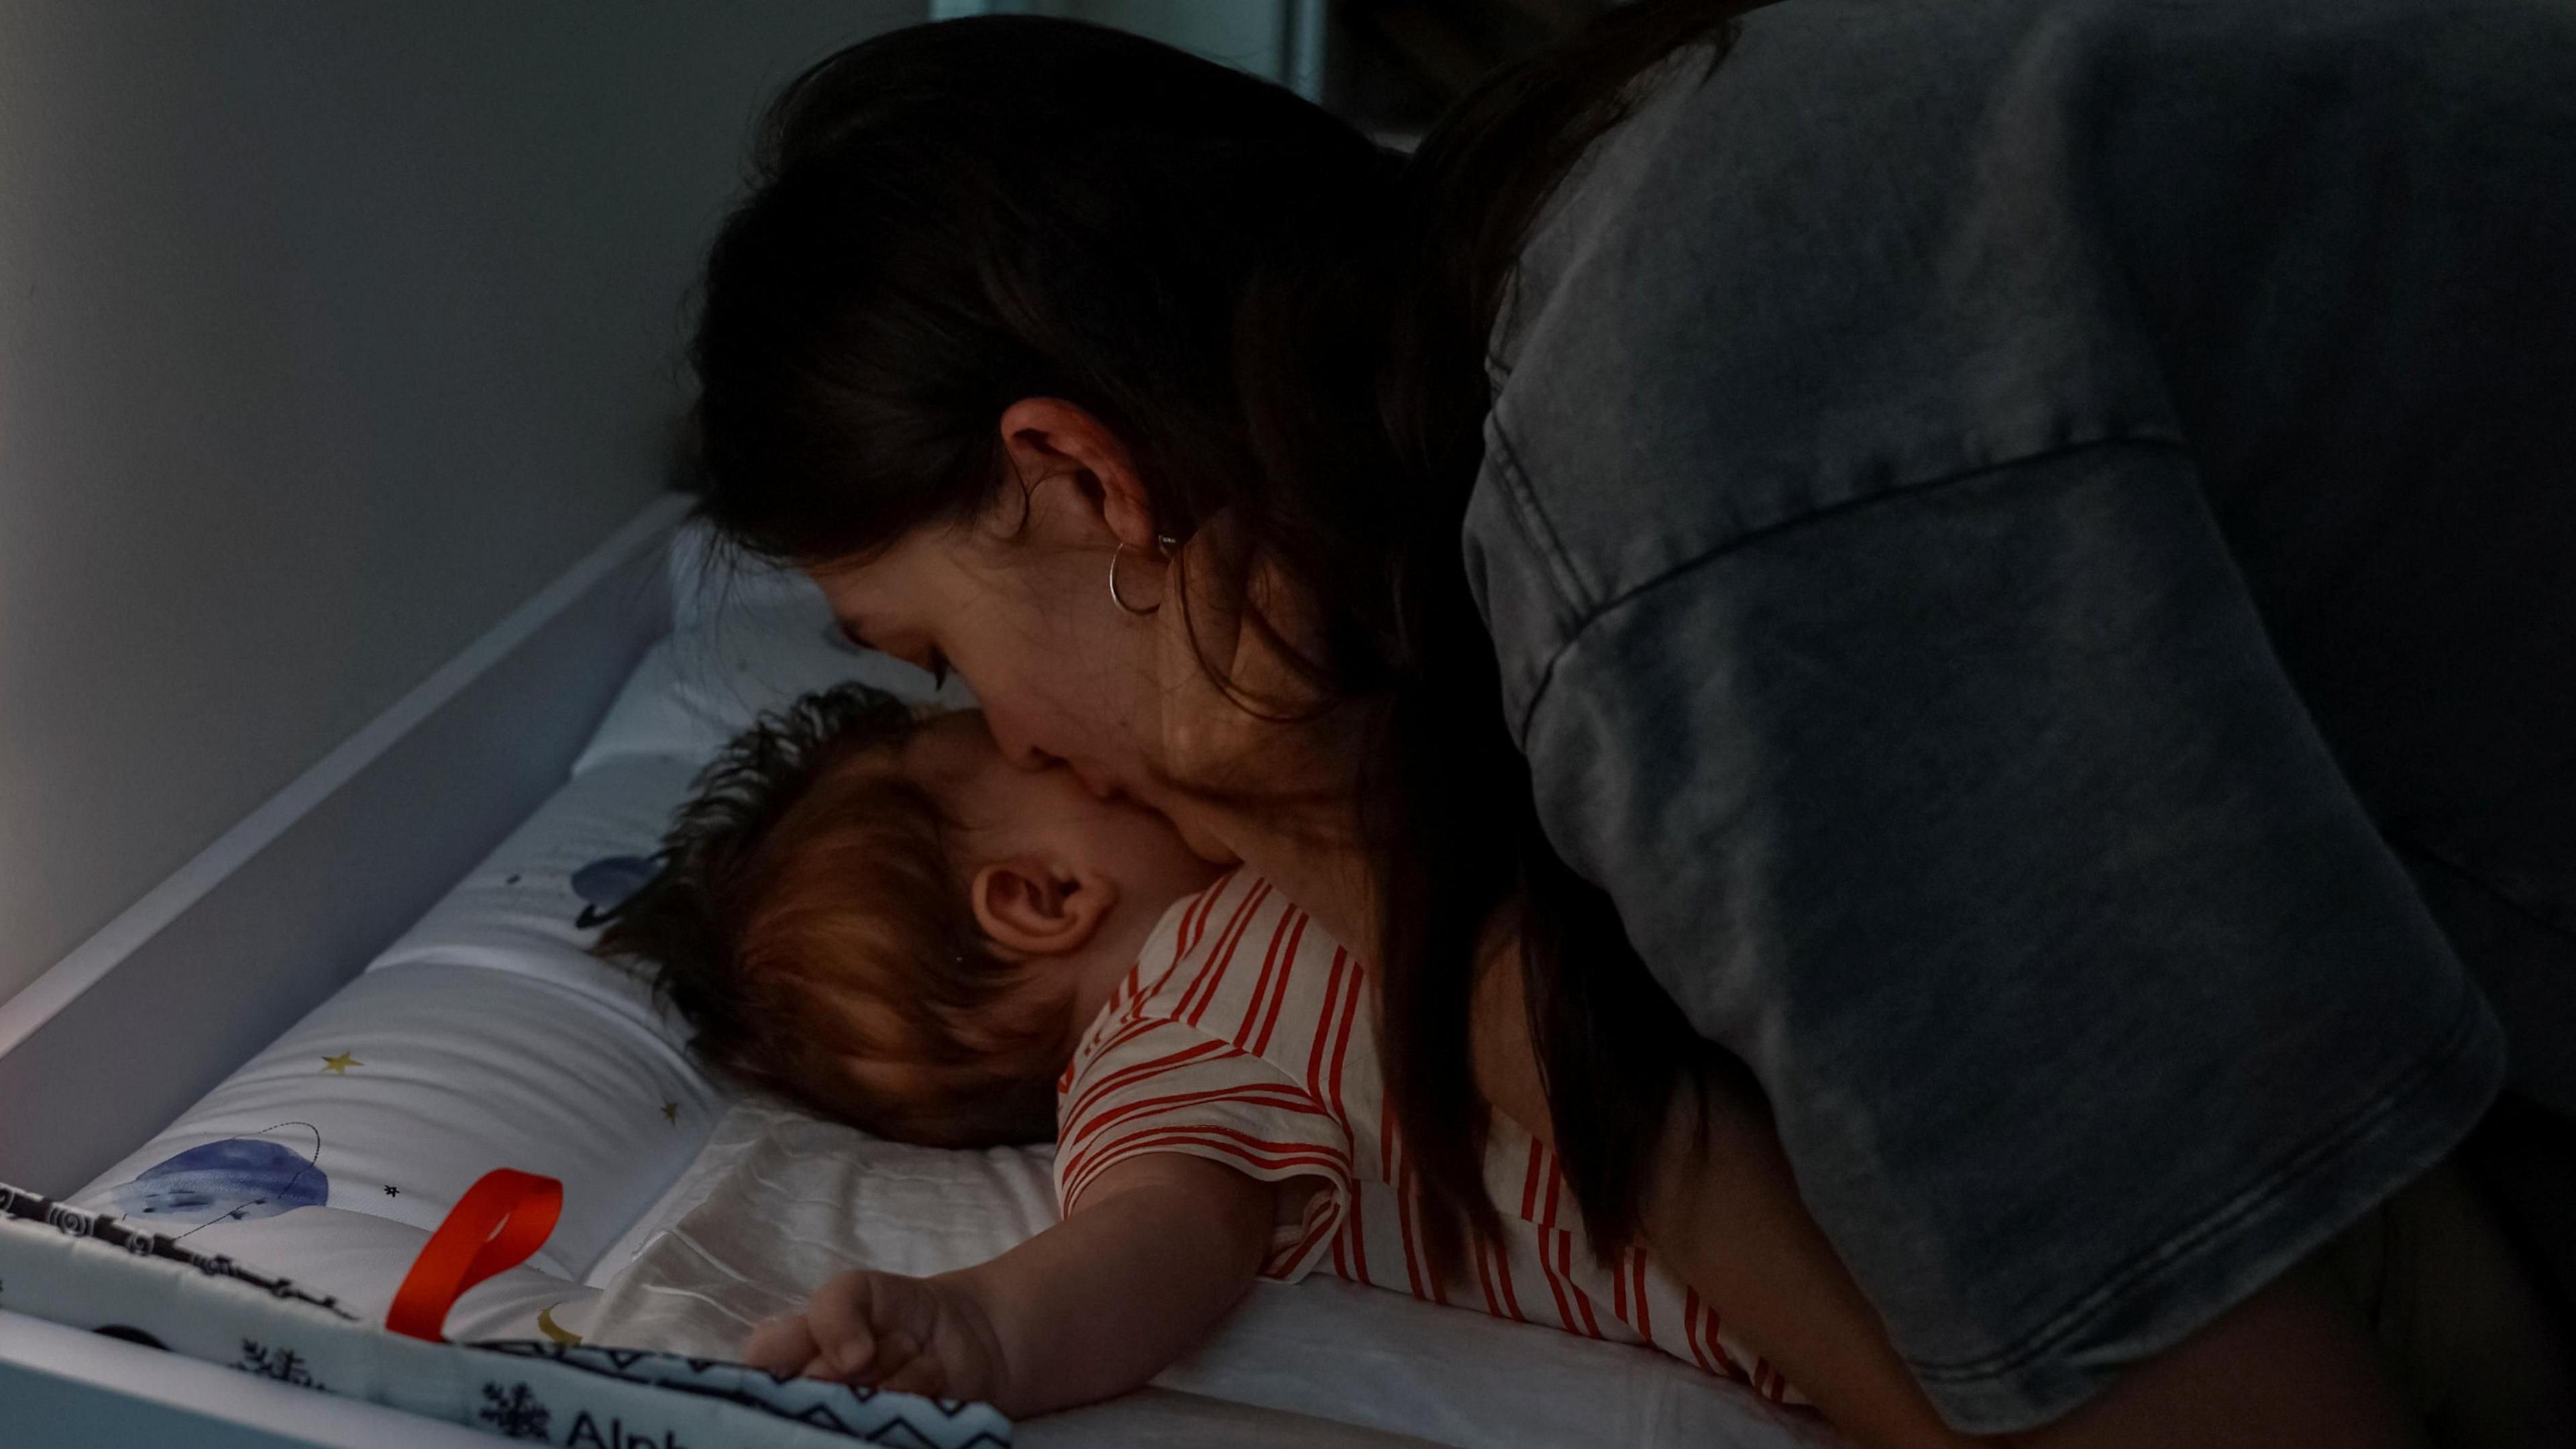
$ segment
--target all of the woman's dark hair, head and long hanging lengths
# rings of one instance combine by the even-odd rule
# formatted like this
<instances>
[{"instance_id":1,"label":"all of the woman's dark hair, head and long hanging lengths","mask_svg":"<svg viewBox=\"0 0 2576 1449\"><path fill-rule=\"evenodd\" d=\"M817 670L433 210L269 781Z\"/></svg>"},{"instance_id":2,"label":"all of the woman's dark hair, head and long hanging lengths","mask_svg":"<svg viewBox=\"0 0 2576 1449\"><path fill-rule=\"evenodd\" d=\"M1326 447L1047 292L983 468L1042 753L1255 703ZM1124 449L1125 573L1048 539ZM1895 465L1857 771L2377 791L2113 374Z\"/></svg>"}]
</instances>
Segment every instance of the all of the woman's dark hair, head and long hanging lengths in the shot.
<instances>
[{"instance_id":1,"label":"all of the woman's dark hair, head and long hanging lengths","mask_svg":"<svg viewBox=\"0 0 2576 1449\"><path fill-rule=\"evenodd\" d=\"M1136 36L896 31L778 98L708 260L701 508L744 547L827 565L981 516L1007 482L1002 410L1061 397L1128 443L1157 529L1226 511L1319 603L1309 681L1376 719L1383 1065L1440 1263L1497 1227L1468 1000L1499 908L1605 1256L1703 1049L1538 828L1458 523L1520 240L1628 80L1741 8L1618 10L1468 95L1412 162Z\"/></svg>"}]
</instances>

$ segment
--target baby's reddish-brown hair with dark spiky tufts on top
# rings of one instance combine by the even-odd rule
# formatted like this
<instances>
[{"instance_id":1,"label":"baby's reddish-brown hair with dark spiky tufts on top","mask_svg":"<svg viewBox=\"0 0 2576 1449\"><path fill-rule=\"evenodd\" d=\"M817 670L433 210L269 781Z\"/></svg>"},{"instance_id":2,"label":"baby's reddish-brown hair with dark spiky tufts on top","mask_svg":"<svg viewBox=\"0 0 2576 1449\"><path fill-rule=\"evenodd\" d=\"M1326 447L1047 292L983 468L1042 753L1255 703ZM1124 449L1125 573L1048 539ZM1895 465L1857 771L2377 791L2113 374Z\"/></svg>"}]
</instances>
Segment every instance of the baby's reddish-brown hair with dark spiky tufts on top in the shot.
<instances>
[{"instance_id":1,"label":"baby's reddish-brown hair with dark spiky tufts on top","mask_svg":"<svg viewBox=\"0 0 2576 1449\"><path fill-rule=\"evenodd\" d=\"M1048 1140L1066 1011L1005 1006L1023 969L976 926L951 817L902 768L920 727L858 683L762 714L595 951L647 962L726 1075L902 1142Z\"/></svg>"}]
</instances>

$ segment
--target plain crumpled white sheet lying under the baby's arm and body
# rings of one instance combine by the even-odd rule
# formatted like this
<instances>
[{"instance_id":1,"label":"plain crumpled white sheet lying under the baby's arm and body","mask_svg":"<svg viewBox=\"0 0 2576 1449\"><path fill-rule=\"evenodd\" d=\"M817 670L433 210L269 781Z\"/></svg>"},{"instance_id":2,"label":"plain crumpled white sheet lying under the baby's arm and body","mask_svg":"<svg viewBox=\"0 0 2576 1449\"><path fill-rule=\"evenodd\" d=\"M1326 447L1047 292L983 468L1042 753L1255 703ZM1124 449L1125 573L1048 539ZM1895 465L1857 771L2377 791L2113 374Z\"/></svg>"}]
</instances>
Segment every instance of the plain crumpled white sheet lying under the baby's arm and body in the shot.
<instances>
[{"instance_id":1,"label":"plain crumpled white sheet lying under the baby's arm and body","mask_svg":"<svg viewBox=\"0 0 2576 1449\"><path fill-rule=\"evenodd\" d=\"M1038 1232L1056 1220L1051 1150L907 1147L752 1098L716 1124L662 1217L670 1225L592 1305L590 1333L729 1356L752 1323L801 1307L837 1271L940 1274ZM1324 1276L1257 1284L1208 1346L1154 1382L1476 1449L1839 1444L1821 1421L1651 1348ZM1110 1441L1087 1418L1097 1413L1025 1421L1020 1444ZM1324 1431L1285 1441L1324 1441Z\"/></svg>"}]
</instances>

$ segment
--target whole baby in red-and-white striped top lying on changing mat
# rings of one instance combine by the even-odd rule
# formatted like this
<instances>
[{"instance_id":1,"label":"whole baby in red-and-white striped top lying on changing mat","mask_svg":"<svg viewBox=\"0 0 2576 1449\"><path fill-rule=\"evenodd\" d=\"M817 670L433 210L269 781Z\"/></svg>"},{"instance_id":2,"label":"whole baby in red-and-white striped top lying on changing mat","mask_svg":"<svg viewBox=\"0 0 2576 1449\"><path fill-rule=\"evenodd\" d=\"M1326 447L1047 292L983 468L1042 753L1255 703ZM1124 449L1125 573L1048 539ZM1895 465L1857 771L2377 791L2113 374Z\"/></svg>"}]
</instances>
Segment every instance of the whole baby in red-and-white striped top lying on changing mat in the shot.
<instances>
[{"instance_id":1,"label":"whole baby in red-and-white striped top lying on changing mat","mask_svg":"<svg viewBox=\"0 0 2576 1449\"><path fill-rule=\"evenodd\" d=\"M1368 967L1159 815L1012 768L981 714L809 696L716 761L662 856L600 949L654 962L716 1065L881 1137L1059 1142L1061 1222L956 1274L842 1274L752 1364L1030 1415L1144 1385L1255 1276L1329 1269L1795 1397L1643 1250L1602 1266L1499 1114L1502 1240L1435 1276Z\"/></svg>"}]
</instances>

